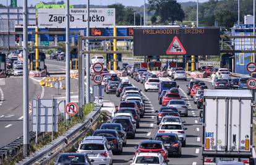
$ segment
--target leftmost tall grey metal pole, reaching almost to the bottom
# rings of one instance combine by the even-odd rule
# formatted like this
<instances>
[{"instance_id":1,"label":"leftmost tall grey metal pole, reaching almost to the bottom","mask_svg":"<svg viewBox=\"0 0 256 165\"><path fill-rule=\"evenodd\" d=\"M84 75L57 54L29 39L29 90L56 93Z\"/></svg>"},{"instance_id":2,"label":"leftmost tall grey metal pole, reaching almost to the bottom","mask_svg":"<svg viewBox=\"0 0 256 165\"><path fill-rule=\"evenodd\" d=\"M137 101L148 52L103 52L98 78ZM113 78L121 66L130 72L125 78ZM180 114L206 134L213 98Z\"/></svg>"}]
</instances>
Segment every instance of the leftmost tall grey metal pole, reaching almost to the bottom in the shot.
<instances>
[{"instance_id":1,"label":"leftmost tall grey metal pole, reaching almost to the bottom","mask_svg":"<svg viewBox=\"0 0 256 165\"><path fill-rule=\"evenodd\" d=\"M30 148L28 101L28 0L23 0L23 158Z\"/></svg>"}]
</instances>

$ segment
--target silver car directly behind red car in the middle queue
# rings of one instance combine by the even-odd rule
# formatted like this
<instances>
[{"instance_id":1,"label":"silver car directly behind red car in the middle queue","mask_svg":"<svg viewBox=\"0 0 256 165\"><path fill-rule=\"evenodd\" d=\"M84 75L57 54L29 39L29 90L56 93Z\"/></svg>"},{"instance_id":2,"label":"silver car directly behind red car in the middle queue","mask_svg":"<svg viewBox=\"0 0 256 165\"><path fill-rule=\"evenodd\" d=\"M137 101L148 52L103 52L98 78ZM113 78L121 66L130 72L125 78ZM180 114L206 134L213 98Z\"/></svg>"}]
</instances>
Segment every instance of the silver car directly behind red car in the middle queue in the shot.
<instances>
[{"instance_id":1,"label":"silver car directly behind red car in the middle queue","mask_svg":"<svg viewBox=\"0 0 256 165\"><path fill-rule=\"evenodd\" d=\"M171 99L167 106L176 108L180 115L188 116L187 104L183 99Z\"/></svg>"}]
</instances>

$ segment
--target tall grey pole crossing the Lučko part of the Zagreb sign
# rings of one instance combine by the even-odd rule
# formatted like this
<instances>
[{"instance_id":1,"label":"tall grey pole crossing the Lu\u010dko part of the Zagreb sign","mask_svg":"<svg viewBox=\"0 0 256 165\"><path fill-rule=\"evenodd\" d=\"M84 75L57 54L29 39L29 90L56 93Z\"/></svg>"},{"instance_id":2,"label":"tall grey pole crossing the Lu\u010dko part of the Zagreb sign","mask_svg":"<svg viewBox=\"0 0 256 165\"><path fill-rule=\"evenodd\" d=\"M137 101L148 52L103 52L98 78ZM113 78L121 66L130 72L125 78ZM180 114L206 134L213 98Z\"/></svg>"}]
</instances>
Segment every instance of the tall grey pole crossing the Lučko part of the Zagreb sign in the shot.
<instances>
[{"instance_id":1,"label":"tall grey pole crossing the Lu\u010dko part of the Zagreb sign","mask_svg":"<svg viewBox=\"0 0 256 165\"><path fill-rule=\"evenodd\" d=\"M90 35L90 0L87 0L87 27L86 36ZM86 50L89 51L89 40L86 40ZM86 54L86 103L90 103L90 54Z\"/></svg>"}]
</instances>

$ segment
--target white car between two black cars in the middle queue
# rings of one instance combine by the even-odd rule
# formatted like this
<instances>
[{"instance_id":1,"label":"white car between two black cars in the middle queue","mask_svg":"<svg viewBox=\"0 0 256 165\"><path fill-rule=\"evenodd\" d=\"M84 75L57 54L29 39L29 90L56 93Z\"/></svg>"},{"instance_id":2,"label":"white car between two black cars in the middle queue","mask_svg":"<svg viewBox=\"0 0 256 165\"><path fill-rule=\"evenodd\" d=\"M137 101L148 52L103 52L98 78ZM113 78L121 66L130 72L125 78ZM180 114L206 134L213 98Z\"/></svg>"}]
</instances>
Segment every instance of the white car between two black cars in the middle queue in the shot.
<instances>
[{"instance_id":1,"label":"white car between two black cars in the middle queue","mask_svg":"<svg viewBox=\"0 0 256 165\"><path fill-rule=\"evenodd\" d=\"M181 139L182 146L186 146L186 133L182 123L178 122L163 122L158 133L176 133Z\"/></svg>"}]
</instances>

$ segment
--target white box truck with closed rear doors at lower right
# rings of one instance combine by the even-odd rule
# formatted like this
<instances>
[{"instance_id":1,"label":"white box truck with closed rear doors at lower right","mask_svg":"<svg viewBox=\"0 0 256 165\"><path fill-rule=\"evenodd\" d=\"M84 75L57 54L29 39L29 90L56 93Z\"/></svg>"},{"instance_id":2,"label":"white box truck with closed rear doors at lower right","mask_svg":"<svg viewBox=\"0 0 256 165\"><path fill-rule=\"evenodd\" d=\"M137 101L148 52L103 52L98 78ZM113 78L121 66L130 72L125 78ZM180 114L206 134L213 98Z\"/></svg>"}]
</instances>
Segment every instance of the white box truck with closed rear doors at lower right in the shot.
<instances>
[{"instance_id":1,"label":"white box truck with closed rear doors at lower right","mask_svg":"<svg viewBox=\"0 0 256 165\"><path fill-rule=\"evenodd\" d=\"M252 157L250 90L205 90L203 95L204 164L221 161L250 163Z\"/></svg>"}]
</instances>

